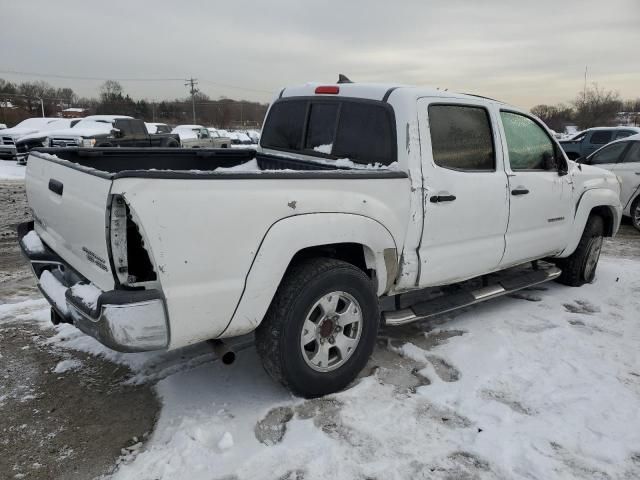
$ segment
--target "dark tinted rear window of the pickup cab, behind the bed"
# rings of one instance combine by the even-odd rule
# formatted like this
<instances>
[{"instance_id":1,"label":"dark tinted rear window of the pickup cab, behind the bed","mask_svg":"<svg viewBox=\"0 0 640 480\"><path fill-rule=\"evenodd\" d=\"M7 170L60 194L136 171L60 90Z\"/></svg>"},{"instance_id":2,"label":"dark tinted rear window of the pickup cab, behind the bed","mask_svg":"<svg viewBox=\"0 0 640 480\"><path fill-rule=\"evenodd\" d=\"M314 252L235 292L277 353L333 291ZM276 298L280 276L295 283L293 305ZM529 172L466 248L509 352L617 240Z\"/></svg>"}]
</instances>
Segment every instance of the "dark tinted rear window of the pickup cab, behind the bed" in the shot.
<instances>
[{"instance_id":1,"label":"dark tinted rear window of the pickup cab, behind the bed","mask_svg":"<svg viewBox=\"0 0 640 480\"><path fill-rule=\"evenodd\" d=\"M396 161L391 107L383 102L344 98L298 97L273 104L261 145L360 164Z\"/></svg>"}]
</instances>

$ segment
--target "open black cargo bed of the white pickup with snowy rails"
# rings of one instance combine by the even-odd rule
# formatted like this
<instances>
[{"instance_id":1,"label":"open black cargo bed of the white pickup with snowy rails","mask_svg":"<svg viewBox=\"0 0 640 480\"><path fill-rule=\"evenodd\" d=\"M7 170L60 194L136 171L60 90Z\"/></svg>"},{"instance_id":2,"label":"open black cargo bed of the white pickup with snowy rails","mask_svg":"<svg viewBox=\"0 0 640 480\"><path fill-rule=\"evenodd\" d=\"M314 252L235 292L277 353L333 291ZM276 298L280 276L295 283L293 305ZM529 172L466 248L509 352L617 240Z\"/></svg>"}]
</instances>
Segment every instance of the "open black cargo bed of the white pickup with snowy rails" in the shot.
<instances>
[{"instance_id":1,"label":"open black cargo bed of the white pickup with snowy rails","mask_svg":"<svg viewBox=\"0 0 640 480\"><path fill-rule=\"evenodd\" d=\"M32 153L44 153L47 160L64 164L102 178L206 178L221 172L216 168L232 168L256 159L261 171L278 173L287 171L333 171L341 176L346 172L358 176L373 173L376 177L405 177L397 170L350 169L297 158L288 158L256 152L254 149L176 149L176 148L38 148ZM36 153L37 154L37 153ZM55 155L55 157L51 156ZM251 172L249 172L251 173ZM255 172L260 173L260 172ZM284 172L281 172L284 173ZM225 172L225 177L233 174ZM246 176L247 171L242 172ZM325 175L326 176L326 175Z\"/></svg>"}]
</instances>

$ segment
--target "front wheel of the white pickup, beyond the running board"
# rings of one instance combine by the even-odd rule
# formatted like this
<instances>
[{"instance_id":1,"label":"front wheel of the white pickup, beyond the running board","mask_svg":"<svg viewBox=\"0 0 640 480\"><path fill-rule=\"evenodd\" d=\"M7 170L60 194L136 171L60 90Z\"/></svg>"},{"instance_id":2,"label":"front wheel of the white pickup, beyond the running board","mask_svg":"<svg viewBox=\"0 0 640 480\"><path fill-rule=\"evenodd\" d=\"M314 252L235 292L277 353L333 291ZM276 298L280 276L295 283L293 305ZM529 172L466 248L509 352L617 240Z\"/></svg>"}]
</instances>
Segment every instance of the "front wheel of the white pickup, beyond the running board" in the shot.
<instances>
[{"instance_id":1,"label":"front wheel of the white pickup, beyond the running board","mask_svg":"<svg viewBox=\"0 0 640 480\"><path fill-rule=\"evenodd\" d=\"M556 260L556 265L562 269L562 274L557 278L558 282L570 287L580 287L593 281L600 258L603 234L602 217L591 215L576 250L567 258Z\"/></svg>"}]
</instances>

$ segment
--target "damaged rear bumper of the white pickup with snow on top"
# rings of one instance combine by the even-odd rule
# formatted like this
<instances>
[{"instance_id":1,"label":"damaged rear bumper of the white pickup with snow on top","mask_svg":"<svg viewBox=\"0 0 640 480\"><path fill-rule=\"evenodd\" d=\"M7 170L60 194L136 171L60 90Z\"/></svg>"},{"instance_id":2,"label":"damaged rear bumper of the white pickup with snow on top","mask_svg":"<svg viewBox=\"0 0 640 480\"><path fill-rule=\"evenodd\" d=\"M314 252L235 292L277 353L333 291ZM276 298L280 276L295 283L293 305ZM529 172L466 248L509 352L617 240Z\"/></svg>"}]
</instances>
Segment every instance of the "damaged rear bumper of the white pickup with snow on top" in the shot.
<instances>
[{"instance_id":1,"label":"damaged rear bumper of the white pickup with snow on top","mask_svg":"<svg viewBox=\"0 0 640 480\"><path fill-rule=\"evenodd\" d=\"M30 233L34 232L34 233ZM29 238L25 240L25 236ZM38 288L60 321L119 352L162 350L169 345L167 310L159 290L98 291L92 298L76 296L73 287L90 285L42 243L33 222L18 226L22 253L38 278Z\"/></svg>"}]
</instances>

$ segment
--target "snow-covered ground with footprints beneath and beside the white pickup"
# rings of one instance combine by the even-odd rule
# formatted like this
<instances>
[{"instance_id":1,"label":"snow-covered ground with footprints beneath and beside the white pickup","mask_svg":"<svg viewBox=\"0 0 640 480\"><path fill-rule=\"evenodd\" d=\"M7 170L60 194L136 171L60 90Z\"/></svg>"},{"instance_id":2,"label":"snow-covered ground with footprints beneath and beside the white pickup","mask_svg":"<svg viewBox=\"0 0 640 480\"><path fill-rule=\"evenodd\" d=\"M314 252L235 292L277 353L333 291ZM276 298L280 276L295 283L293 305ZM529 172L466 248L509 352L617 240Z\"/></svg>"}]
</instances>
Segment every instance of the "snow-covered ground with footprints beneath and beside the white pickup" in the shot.
<instances>
[{"instance_id":1,"label":"snow-covered ground with footprints beneath and beside the white pickup","mask_svg":"<svg viewBox=\"0 0 640 480\"><path fill-rule=\"evenodd\" d=\"M47 324L42 300L0 322ZM304 401L255 350L118 354L62 325L54 347L129 365L163 407L115 480L640 478L640 261L606 257L582 288L548 283L385 332L350 389ZM60 366L60 368L66 368Z\"/></svg>"}]
</instances>

